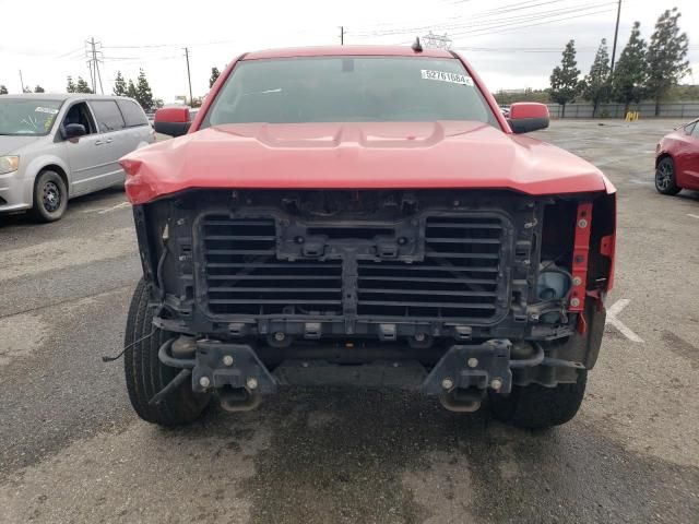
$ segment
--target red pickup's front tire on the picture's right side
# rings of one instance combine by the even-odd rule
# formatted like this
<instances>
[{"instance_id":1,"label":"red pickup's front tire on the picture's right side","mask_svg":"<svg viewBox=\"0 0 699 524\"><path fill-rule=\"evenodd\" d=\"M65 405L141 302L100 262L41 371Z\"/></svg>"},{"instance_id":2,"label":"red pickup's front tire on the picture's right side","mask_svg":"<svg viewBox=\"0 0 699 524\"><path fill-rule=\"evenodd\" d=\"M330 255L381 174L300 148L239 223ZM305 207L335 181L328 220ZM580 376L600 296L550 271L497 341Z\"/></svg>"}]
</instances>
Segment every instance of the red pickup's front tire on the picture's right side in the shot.
<instances>
[{"instance_id":1,"label":"red pickup's front tire on the picture's right side","mask_svg":"<svg viewBox=\"0 0 699 524\"><path fill-rule=\"evenodd\" d=\"M588 371L581 370L574 384L558 384L555 388L516 385L508 396L491 394L490 410L498 420L520 428L560 426L578 413L587 382Z\"/></svg>"}]
</instances>

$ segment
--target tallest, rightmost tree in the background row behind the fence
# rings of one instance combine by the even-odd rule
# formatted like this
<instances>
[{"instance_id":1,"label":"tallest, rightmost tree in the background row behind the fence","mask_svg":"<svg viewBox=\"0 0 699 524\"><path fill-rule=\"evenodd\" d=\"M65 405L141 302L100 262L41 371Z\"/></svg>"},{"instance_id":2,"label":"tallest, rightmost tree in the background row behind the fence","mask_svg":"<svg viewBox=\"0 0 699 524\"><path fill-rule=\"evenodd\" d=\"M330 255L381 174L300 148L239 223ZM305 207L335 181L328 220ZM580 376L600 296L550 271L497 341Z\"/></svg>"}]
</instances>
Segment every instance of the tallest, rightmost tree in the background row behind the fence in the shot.
<instances>
[{"instance_id":1,"label":"tallest, rightmost tree in the background row behind the fence","mask_svg":"<svg viewBox=\"0 0 699 524\"><path fill-rule=\"evenodd\" d=\"M660 102L673 85L689 72L685 60L689 48L687 33L679 33L680 13L677 8L665 10L655 23L645 55L648 61L648 94L655 100L655 116L660 112Z\"/></svg>"}]
</instances>

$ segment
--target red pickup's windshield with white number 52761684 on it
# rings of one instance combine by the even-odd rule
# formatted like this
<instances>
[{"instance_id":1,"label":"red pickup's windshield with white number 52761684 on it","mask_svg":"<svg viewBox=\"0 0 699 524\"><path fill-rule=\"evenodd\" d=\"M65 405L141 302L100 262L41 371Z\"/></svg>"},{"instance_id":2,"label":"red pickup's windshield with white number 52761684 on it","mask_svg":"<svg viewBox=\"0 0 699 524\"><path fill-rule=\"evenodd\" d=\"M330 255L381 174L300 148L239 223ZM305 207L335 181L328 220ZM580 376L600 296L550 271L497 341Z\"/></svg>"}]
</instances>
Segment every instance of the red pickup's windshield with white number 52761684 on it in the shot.
<instances>
[{"instance_id":1,"label":"red pickup's windshield with white number 52761684 on it","mask_svg":"<svg viewBox=\"0 0 699 524\"><path fill-rule=\"evenodd\" d=\"M475 120L499 124L457 59L320 57L238 63L201 129L223 123Z\"/></svg>"}]
</instances>

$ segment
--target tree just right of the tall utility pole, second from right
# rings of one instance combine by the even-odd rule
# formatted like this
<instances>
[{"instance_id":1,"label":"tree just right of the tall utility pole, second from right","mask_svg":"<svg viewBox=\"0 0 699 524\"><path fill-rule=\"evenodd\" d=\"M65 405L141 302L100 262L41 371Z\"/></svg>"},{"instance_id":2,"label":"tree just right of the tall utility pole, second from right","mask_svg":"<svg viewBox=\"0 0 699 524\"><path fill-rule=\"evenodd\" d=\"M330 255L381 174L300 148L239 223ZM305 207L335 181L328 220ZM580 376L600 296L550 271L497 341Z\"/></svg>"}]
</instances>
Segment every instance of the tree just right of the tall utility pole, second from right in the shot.
<instances>
[{"instance_id":1,"label":"tree just right of the tall utility pole, second from right","mask_svg":"<svg viewBox=\"0 0 699 524\"><path fill-rule=\"evenodd\" d=\"M612 99L624 104L624 115L629 104L641 102L645 84L645 40L641 38L641 24L633 22L631 36L621 51L612 73Z\"/></svg>"}]
</instances>

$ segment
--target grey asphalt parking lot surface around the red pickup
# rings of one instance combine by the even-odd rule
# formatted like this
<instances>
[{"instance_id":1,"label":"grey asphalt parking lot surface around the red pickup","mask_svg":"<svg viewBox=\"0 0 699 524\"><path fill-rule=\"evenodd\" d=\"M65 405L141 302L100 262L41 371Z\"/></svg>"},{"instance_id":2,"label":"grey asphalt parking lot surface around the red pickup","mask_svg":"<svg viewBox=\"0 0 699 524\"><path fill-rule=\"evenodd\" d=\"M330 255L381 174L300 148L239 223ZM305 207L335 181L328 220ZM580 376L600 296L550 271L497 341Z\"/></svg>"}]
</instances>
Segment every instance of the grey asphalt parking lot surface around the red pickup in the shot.
<instances>
[{"instance_id":1,"label":"grey asphalt parking lot surface around the red pickup","mask_svg":"<svg viewBox=\"0 0 699 524\"><path fill-rule=\"evenodd\" d=\"M699 522L699 193L659 195L677 121L536 138L619 198L611 321L571 422L524 431L416 394L287 390L176 430L135 417L122 344L140 263L123 192L0 217L0 522Z\"/></svg>"}]
</instances>

